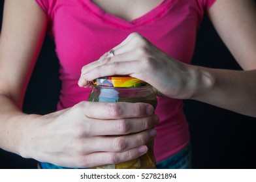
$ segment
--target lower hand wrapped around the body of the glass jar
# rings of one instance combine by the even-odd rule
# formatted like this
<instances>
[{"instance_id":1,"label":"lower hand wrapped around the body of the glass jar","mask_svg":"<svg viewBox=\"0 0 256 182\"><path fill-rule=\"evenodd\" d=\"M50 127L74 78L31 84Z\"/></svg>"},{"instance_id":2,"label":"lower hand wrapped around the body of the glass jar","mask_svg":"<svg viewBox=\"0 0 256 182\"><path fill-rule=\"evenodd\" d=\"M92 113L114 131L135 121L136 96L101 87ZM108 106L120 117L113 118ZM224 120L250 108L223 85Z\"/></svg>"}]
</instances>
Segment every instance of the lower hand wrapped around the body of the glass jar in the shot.
<instances>
[{"instance_id":1,"label":"lower hand wrapped around the body of the glass jar","mask_svg":"<svg viewBox=\"0 0 256 182\"><path fill-rule=\"evenodd\" d=\"M31 132L22 136L22 156L72 168L129 161L146 153L145 144L155 137L158 122L146 103L83 101L37 116Z\"/></svg>"}]
</instances>

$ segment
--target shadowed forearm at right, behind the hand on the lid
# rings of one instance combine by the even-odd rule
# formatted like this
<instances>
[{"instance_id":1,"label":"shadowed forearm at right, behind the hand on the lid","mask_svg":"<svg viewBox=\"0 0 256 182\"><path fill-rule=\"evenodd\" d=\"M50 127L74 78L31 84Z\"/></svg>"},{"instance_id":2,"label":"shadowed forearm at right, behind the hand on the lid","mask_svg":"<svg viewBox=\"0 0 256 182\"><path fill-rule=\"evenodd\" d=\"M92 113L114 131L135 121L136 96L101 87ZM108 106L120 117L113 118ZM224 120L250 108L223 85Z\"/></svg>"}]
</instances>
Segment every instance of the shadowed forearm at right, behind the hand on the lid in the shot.
<instances>
[{"instance_id":1,"label":"shadowed forearm at right, behind the hand on the lid","mask_svg":"<svg viewBox=\"0 0 256 182\"><path fill-rule=\"evenodd\" d=\"M192 68L196 90L191 99L256 117L256 70Z\"/></svg>"}]
</instances>

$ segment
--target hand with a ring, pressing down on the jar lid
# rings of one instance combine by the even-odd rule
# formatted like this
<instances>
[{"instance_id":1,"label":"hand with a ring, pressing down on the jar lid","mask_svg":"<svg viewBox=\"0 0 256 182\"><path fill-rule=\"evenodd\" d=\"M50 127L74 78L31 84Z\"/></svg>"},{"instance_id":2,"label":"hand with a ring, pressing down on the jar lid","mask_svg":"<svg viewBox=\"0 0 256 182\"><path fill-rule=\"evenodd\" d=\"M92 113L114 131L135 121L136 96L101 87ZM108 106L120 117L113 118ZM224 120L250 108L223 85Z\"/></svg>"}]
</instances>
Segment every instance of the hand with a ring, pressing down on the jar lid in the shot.
<instances>
[{"instance_id":1,"label":"hand with a ring, pressing down on the jar lid","mask_svg":"<svg viewBox=\"0 0 256 182\"><path fill-rule=\"evenodd\" d=\"M138 33L130 34L99 60L82 68L79 86L109 75L129 75L152 85L157 94L170 98L191 98L196 91L193 66L168 56Z\"/></svg>"}]
</instances>

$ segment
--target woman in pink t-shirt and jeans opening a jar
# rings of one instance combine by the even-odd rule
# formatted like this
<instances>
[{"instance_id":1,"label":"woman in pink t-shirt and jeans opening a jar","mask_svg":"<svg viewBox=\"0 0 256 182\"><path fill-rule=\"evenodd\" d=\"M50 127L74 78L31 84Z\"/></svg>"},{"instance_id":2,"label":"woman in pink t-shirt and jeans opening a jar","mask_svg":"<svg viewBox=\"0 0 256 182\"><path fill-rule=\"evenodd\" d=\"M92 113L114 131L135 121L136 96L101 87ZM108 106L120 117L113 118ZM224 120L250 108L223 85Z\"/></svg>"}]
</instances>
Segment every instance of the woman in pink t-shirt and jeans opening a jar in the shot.
<instances>
[{"instance_id":1,"label":"woman in pink t-shirt and jeans opening a jar","mask_svg":"<svg viewBox=\"0 0 256 182\"><path fill-rule=\"evenodd\" d=\"M189 65L206 13L247 71ZM157 168L190 168L180 99L256 116L255 15L250 0L6 0L0 42L1 148L37 159L42 168L88 168L143 155L157 131ZM20 110L22 99L46 31L61 64L58 111L27 115ZM88 81L106 75L150 83L159 96L155 114L143 103L84 101Z\"/></svg>"}]
</instances>

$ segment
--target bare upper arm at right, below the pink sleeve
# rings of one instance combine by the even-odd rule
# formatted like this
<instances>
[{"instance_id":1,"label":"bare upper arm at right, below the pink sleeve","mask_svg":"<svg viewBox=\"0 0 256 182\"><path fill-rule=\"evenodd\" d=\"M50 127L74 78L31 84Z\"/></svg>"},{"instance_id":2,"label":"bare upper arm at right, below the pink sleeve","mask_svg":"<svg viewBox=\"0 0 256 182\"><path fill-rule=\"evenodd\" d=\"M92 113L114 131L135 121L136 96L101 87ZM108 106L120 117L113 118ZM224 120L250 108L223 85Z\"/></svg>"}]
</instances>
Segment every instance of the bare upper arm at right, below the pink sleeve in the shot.
<instances>
[{"instance_id":1,"label":"bare upper arm at right, below the pink sleeve","mask_svg":"<svg viewBox=\"0 0 256 182\"><path fill-rule=\"evenodd\" d=\"M253 0L217 0L209 17L244 70L256 69L256 4Z\"/></svg>"}]
</instances>

